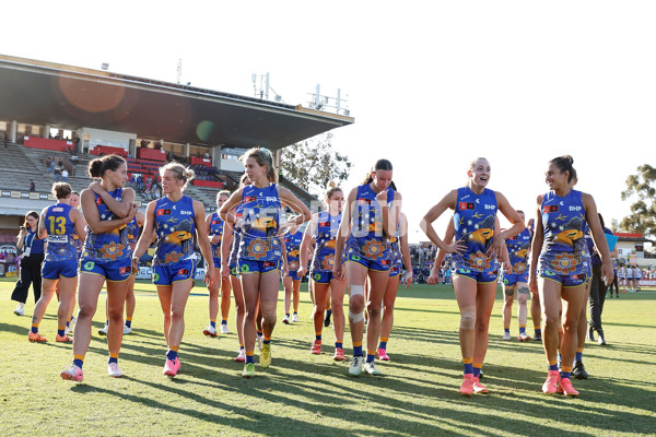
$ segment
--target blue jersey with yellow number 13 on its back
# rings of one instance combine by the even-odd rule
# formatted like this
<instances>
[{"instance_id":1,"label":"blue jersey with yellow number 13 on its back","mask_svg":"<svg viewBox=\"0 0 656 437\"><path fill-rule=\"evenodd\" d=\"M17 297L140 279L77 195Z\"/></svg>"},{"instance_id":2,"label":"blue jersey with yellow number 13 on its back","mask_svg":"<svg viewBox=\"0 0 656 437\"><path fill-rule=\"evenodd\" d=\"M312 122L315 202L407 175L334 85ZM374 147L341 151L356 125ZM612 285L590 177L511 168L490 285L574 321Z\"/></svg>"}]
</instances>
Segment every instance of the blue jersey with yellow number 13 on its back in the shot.
<instances>
[{"instance_id":1,"label":"blue jersey with yellow number 13 on its back","mask_svg":"<svg viewBox=\"0 0 656 437\"><path fill-rule=\"evenodd\" d=\"M78 260L75 248L75 224L70 220L70 205L57 203L46 209L44 224L48 229L46 261Z\"/></svg>"}]
</instances>

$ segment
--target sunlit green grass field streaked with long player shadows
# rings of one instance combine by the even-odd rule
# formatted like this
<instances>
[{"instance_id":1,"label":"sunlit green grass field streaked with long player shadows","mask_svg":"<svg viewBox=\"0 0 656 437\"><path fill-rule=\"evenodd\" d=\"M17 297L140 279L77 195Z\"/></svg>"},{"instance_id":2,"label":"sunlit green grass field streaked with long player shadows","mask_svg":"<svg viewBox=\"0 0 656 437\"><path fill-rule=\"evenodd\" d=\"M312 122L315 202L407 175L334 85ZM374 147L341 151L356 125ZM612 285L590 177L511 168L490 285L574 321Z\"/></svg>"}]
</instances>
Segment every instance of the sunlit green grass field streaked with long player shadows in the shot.
<instances>
[{"instance_id":1,"label":"sunlit green grass field streaked with long player shadows","mask_svg":"<svg viewBox=\"0 0 656 437\"><path fill-rule=\"evenodd\" d=\"M546 361L539 342L503 342L502 295L490 323L484 365L488 395L461 398L459 316L450 287L415 285L400 291L383 377L348 376L348 362L335 363L332 331L324 331L324 353L309 354L311 304L302 293L301 322L279 324L273 364L257 377L239 377L234 307L232 334L206 338L207 291L195 287L180 346L183 368L162 375L166 345L154 287L138 283L133 332L124 338L124 378L106 373L107 349L96 334L84 362L84 382L59 378L70 365L70 344L27 342L33 303L26 316L12 314L13 280L0 280L0 429L5 435L321 435L321 436L624 436L656 433L656 293L607 299L607 346L588 342L584 363L590 378L574 381L578 399L547 397L540 388ZM303 287L302 290L305 290ZM32 298L32 297L31 297ZM101 308L104 294L101 295ZM40 332L54 340L52 302ZM529 322L529 328L532 328ZM529 330L531 332L532 330ZM513 320L513 335L517 323ZM349 334L344 338L351 352ZM257 355L257 352L256 352ZM349 356L348 356L349 358ZM256 363L258 358L256 356Z\"/></svg>"}]
</instances>

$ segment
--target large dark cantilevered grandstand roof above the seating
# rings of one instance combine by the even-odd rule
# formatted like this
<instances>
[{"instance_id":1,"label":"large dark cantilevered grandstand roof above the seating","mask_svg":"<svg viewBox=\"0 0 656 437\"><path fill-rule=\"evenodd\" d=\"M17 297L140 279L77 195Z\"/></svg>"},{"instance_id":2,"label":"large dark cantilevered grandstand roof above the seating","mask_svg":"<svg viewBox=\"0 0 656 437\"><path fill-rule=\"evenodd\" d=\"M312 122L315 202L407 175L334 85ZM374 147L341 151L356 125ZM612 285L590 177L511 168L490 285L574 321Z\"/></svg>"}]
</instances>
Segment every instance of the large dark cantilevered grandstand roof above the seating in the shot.
<instances>
[{"instance_id":1,"label":"large dark cantilevered grandstand roof above the seating","mask_svg":"<svg viewBox=\"0 0 656 437\"><path fill-rule=\"evenodd\" d=\"M0 55L0 119L276 150L351 117L107 71Z\"/></svg>"}]
</instances>

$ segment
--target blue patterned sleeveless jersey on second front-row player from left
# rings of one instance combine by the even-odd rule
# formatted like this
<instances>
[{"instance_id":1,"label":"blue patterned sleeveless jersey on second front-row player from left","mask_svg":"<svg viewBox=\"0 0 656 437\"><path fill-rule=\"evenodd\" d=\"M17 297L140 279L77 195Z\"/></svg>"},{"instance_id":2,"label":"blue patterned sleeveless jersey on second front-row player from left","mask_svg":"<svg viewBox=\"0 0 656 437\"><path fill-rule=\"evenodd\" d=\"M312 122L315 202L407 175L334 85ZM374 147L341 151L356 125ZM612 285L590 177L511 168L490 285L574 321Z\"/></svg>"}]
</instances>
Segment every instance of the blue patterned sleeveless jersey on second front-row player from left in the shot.
<instances>
[{"instance_id":1,"label":"blue patterned sleeveless jersey on second front-row player from left","mask_svg":"<svg viewBox=\"0 0 656 437\"><path fill-rule=\"evenodd\" d=\"M154 265L173 264L195 259L194 234L196 233L194 200L183 196L174 202L167 197L155 203L155 245Z\"/></svg>"}]
</instances>

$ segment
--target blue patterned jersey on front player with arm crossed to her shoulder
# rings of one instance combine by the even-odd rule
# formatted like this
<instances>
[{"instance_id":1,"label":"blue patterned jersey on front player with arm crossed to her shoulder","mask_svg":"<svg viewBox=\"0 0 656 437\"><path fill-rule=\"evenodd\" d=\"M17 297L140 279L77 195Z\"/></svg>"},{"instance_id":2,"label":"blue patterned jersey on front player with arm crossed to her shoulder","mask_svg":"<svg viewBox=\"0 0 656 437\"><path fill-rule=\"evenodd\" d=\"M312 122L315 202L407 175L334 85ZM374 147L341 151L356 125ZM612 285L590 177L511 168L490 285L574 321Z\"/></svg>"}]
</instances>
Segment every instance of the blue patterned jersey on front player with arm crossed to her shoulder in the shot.
<instances>
[{"instance_id":1,"label":"blue patterned jersey on front player with arm crossed to her shoulder","mask_svg":"<svg viewBox=\"0 0 656 437\"><path fill-rule=\"evenodd\" d=\"M122 188L117 188L114 191L109 191L116 201L122 200ZM98 216L101 222L109 222L117 220L112 210L105 204L103 198L95 192L95 203L98 208ZM116 261L122 259L130 259L132 257L132 250L128 245L128 227L126 225L120 228L115 228L108 233L95 234L91 227L86 226L86 240L84 241L84 250L82 251L82 260L84 261Z\"/></svg>"}]
</instances>

